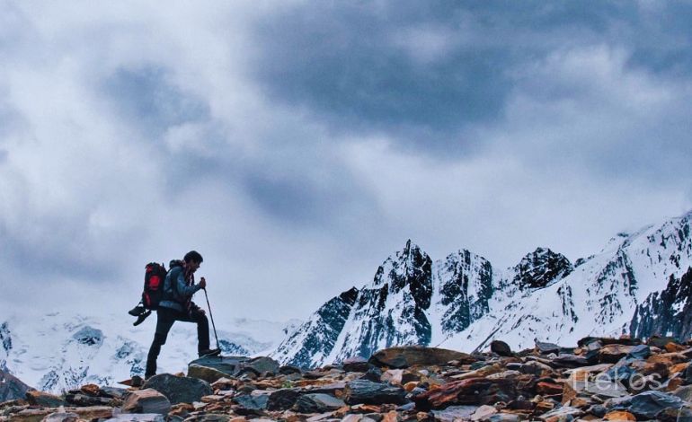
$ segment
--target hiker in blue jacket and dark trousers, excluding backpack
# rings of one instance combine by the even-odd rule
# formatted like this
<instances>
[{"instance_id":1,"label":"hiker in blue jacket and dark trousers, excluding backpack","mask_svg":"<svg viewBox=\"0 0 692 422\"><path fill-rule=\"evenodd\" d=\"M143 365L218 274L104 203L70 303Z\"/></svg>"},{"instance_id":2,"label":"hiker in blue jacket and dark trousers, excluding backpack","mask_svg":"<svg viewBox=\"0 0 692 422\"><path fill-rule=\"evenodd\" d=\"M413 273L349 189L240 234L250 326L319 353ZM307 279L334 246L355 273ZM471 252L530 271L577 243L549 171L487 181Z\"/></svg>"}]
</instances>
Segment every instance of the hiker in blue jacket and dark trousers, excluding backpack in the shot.
<instances>
[{"instance_id":1,"label":"hiker in blue jacket and dark trousers, excluding backpack","mask_svg":"<svg viewBox=\"0 0 692 422\"><path fill-rule=\"evenodd\" d=\"M164 281L164 296L156 309L156 331L154 341L146 356L145 379L156 374L156 358L165 344L168 331L175 321L197 323L197 351L199 356L218 355L218 348L209 349L209 322L204 310L192 302L192 295L207 286L207 280L200 278L195 284L194 273L203 259L199 252L190 251L180 260L171 261Z\"/></svg>"}]
</instances>

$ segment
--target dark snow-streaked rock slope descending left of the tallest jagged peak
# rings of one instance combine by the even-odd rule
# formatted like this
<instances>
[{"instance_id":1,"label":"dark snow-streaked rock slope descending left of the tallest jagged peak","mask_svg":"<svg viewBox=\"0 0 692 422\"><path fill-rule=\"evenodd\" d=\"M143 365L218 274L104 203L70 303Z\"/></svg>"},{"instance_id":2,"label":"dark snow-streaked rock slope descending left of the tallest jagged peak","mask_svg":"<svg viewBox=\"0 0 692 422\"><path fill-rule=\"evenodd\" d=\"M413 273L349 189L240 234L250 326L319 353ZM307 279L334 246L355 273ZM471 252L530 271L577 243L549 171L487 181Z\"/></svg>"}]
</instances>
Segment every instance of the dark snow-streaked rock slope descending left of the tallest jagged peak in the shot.
<instances>
[{"instance_id":1,"label":"dark snow-streaked rock slope descending left of the tallest jagged peak","mask_svg":"<svg viewBox=\"0 0 692 422\"><path fill-rule=\"evenodd\" d=\"M281 342L273 356L280 359L281 356L290 353L292 357L284 364L298 367L315 366L314 356L327 356L332 352L358 294L359 290L352 287L324 303L309 321ZM294 354L295 347L299 349Z\"/></svg>"}]
</instances>

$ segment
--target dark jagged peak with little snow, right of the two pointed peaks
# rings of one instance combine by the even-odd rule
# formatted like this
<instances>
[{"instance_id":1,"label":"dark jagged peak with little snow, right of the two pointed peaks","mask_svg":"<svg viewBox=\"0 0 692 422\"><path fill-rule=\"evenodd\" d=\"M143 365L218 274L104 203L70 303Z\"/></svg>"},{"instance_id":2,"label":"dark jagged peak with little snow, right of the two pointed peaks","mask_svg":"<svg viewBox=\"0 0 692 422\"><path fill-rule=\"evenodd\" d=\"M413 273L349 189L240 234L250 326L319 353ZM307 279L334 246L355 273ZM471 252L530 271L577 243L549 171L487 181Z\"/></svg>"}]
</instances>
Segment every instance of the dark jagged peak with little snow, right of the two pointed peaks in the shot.
<instances>
[{"instance_id":1,"label":"dark jagged peak with little snow, right of the two pointed peaks","mask_svg":"<svg viewBox=\"0 0 692 422\"><path fill-rule=\"evenodd\" d=\"M570 274L574 266L561 253L548 248L537 248L522 258L514 269L514 282L524 290L548 286Z\"/></svg>"}]
</instances>

